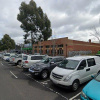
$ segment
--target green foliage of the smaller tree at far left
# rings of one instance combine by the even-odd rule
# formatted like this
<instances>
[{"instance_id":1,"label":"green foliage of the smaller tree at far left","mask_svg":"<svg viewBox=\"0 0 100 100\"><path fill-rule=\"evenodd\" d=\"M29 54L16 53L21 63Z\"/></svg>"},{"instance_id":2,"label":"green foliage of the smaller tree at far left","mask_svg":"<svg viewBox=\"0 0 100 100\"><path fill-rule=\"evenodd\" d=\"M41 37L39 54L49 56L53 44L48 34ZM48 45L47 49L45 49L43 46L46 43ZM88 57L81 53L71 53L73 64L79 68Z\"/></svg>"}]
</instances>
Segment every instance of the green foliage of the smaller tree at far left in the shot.
<instances>
[{"instance_id":1,"label":"green foliage of the smaller tree at far left","mask_svg":"<svg viewBox=\"0 0 100 100\"><path fill-rule=\"evenodd\" d=\"M0 40L0 50L8 50L15 48L15 41L10 38L9 35L5 34Z\"/></svg>"}]
</instances>

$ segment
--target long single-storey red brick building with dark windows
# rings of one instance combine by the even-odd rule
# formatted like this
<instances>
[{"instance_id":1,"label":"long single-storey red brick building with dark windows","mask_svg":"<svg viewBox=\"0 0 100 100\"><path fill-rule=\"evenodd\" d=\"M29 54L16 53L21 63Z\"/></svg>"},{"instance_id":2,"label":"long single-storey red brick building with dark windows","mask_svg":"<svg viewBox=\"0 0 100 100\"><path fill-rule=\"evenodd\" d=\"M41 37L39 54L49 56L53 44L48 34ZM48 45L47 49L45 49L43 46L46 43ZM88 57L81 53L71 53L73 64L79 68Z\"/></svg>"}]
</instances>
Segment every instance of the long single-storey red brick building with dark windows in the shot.
<instances>
[{"instance_id":1,"label":"long single-storey red brick building with dark windows","mask_svg":"<svg viewBox=\"0 0 100 100\"><path fill-rule=\"evenodd\" d=\"M68 37L38 42L33 45L33 53L48 54L50 56L74 56L96 54L100 50L99 43L71 40Z\"/></svg>"}]
</instances>

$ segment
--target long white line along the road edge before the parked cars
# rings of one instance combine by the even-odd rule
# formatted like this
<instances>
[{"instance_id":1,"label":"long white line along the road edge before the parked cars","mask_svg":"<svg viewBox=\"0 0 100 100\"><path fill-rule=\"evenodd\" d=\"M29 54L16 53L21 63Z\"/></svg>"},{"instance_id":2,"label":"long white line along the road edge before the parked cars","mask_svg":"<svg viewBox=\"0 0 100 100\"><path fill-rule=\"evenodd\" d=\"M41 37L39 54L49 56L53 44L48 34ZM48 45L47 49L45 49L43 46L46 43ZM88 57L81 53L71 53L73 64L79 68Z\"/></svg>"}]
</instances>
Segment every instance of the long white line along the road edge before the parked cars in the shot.
<instances>
[{"instance_id":1,"label":"long white line along the road edge before the parked cars","mask_svg":"<svg viewBox=\"0 0 100 100\"><path fill-rule=\"evenodd\" d=\"M40 84L40 85L42 85L43 87L47 88L47 89L48 89L48 90L50 90L51 92L54 92L54 93L56 93L57 95L61 96L62 98L66 99L66 100L69 100L67 97L65 97L65 96L64 96L64 95L62 95L61 93L56 92L55 90L53 90L53 89L49 88L48 86L46 86L46 85L42 84L41 82L39 82L39 81L35 80L34 78L32 78L32 77L30 77L30 76L28 76L27 74L25 74L25 73L23 73L23 74L24 74L25 76L27 76L27 77L31 78L31 79L32 79L32 80L34 80L35 82L39 83L39 84Z\"/></svg>"}]
</instances>

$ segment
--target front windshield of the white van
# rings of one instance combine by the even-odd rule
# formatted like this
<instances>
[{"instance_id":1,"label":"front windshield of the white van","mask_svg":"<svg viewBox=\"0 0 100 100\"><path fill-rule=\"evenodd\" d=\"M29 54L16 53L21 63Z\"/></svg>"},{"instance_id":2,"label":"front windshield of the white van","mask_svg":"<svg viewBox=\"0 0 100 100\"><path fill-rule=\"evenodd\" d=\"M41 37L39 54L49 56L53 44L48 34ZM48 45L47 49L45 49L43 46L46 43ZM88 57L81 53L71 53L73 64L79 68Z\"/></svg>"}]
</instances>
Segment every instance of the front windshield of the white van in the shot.
<instances>
[{"instance_id":1,"label":"front windshield of the white van","mask_svg":"<svg viewBox=\"0 0 100 100\"><path fill-rule=\"evenodd\" d=\"M63 60L58 67L60 68L64 68L64 69L75 69L78 65L79 61L77 60L70 60L70 59L66 59Z\"/></svg>"}]
</instances>

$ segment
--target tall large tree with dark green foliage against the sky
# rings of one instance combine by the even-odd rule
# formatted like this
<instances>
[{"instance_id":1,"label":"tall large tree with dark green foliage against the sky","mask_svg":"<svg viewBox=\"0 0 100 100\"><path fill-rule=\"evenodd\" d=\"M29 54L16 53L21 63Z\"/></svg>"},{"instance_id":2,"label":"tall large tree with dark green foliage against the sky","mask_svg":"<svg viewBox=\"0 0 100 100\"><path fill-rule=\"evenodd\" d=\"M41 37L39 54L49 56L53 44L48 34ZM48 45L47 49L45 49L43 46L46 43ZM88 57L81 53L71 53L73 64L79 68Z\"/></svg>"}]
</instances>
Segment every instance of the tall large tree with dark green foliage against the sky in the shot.
<instances>
[{"instance_id":1,"label":"tall large tree with dark green foliage against the sky","mask_svg":"<svg viewBox=\"0 0 100 100\"><path fill-rule=\"evenodd\" d=\"M33 0L29 4L22 2L19 11L17 19L21 22L20 27L24 32L31 35L32 44L37 42L41 35L44 40L47 40L52 35L50 20Z\"/></svg>"}]
</instances>

